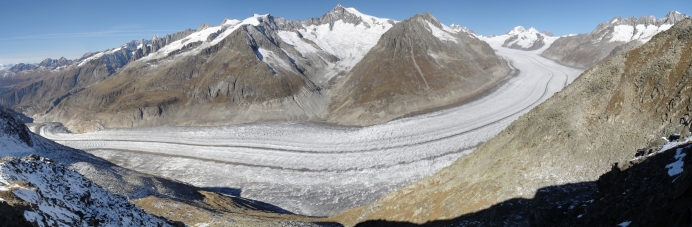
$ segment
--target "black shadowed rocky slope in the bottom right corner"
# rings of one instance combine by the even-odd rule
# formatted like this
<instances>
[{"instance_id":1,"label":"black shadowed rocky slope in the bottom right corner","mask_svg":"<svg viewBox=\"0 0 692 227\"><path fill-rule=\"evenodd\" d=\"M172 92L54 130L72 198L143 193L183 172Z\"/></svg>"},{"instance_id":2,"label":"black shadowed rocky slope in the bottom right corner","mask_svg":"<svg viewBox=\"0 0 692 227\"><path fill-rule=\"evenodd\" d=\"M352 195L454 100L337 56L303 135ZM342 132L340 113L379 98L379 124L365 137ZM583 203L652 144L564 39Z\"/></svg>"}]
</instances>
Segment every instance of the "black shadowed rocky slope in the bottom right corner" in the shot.
<instances>
[{"instance_id":1,"label":"black shadowed rocky slope in the bottom right corner","mask_svg":"<svg viewBox=\"0 0 692 227\"><path fill-rule=\"evenodd\" d=\"M357 226L691 226L692 144L615 163L598 181L541 188L450 220Z\"/></svg>"}]
</instances>

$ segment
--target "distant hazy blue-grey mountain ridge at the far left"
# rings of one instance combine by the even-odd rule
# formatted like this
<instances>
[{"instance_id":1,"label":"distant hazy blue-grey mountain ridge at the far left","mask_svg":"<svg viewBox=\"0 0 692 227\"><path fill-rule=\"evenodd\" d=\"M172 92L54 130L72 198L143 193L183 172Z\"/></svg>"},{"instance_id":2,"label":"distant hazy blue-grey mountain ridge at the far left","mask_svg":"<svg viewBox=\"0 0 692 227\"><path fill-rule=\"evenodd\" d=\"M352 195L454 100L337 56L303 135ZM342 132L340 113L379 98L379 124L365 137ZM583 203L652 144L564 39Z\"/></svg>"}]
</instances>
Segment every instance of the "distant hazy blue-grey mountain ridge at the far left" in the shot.
<instances>
[{"instance_id":1,"label":"distant hazy blue-grey mountain ridge at the far left","mask_svg":"<svg viewBox=\"0 0 692 227\"><path fill-rule=\"evenodd\" d=\"M27 116L45 114L66 97L191 32L186 30L155 41L134 40L114 49L86 53L76 60L47 58L38 64L16 64L0 77L0 105Z\"/></svg>"}]
</instances>

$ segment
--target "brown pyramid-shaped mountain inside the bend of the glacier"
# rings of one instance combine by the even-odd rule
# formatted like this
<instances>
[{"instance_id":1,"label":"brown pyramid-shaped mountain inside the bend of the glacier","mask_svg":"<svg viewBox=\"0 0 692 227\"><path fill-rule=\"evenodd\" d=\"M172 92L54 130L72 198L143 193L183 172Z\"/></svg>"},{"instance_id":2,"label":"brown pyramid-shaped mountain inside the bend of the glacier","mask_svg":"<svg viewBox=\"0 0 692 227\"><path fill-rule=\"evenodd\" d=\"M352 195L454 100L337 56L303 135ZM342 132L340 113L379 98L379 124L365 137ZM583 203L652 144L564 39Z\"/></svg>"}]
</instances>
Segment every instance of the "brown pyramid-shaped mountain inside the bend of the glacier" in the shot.
<instances>
[{"instance_id":1,"label":"brown pyramid-shaped mountain inside the bend of the glacier","mask_svg":"<svg viewBox=\"0 0 692 227\"><path fill-rule=\"evenodd\" d=\"M332 92L327 121L369 125L459 103L509 73L485 42L466 33L443 40L431 32L442 26L428 13L389 29Z\"/></svg>"}]
</instances>

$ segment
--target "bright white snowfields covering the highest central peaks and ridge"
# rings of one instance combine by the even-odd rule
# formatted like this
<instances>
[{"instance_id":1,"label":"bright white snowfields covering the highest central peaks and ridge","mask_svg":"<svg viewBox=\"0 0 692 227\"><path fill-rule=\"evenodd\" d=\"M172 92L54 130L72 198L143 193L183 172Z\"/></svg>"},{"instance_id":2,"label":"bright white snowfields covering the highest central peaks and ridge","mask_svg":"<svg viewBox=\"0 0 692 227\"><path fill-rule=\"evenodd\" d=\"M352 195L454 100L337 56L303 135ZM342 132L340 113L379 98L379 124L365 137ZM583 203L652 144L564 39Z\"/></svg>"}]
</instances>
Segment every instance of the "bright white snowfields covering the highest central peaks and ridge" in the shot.
<instances>
[{"instance_id":1,"label":"bright white snowfields covering the highest central peaks and ridge","mask_svg":"<svg viewBox=\"0 0 692 227\"><path fill-rule=\"evenodd\" d=\"M205 48L217 45L242 26L262 26L263 23L270 26L270 30L275 30L281 41L301 53L302 56L288 56L295 61L315 55L320 57L311 59L319 59L326 56L324 54L337 57L338 60L335 62L325 60L327 66L321 74L324 74L324 78L328 80L339 73L351 70L377 44L382 34L397 21L370 16L354 8L343 8L340 5L325 14L322 19L314 18L305 21L286 21L283 18L273 18L268 14L254 14L242 21L225 20L219 26L198 30L140 60L161 59L172 53L196 54ZM271 34L267 35L271 36ZM193 48L189 48L187 45L193 45ZM288 55L289 51L283 50L282 52L274 54L277 56ZM274 66L269 65L269 67L276 67L283 61L278 58L275 59L277 56L272 56L268 52L263 55L265 62L276 63ZM289 71L295 71L295 69Z\"/></svg>"}]
</instances>

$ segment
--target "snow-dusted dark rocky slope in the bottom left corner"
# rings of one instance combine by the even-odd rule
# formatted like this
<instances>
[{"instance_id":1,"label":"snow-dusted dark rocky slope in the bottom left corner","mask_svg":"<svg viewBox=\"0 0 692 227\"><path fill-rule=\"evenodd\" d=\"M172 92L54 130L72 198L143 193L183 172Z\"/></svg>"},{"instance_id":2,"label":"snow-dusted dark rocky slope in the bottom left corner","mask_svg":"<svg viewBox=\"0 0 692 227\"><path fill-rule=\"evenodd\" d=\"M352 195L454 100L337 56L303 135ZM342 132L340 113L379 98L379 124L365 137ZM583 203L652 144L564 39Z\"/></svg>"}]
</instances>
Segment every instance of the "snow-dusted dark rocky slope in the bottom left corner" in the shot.
<instances>
[{"instance_id":1,"label":"snow-dusted dark rocky slope in the bottom left corner","mask_svg":"<svg viewBox=\"0 0 692 227\"><path fill-rule=\"evenodd\" d=\"M21 181L30 187L11 183ZM61 164L38 156L0 163L0 191L35 208L24 217L39 226L170 226Z\"/></svg>"}]
</instances>

